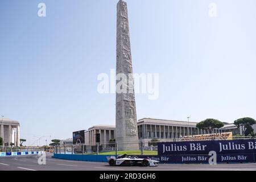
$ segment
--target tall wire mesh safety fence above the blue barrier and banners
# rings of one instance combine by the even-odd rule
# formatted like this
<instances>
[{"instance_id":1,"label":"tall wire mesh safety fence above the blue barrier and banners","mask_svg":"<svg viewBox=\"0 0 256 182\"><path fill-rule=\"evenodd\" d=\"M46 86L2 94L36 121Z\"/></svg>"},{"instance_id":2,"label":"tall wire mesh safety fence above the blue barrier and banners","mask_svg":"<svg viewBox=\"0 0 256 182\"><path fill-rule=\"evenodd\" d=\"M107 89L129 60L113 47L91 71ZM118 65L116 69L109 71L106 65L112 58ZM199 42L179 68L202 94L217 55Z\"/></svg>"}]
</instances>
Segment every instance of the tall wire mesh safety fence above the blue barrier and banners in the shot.
<instances>
[{"instance_id":1,"label":"tall wire mesh safety fence above the blue barrier and banners","mask_svg":"<svg viewBox=\"0 0 256 182\"><path fill-rule=\"evenodd\" d=\"M233 137L233 139L247 140L251 137ZM207 140L225 140L215 137ZM123 142L84 143L64 146L55 146L55 154L81 154L81 155L157 155L159 142L189 142L195 141L180 139L143 139ZM198 140L197 140L198 141ZM131 147L132 146L132 147Z\"/></svg>"}]
</instances>

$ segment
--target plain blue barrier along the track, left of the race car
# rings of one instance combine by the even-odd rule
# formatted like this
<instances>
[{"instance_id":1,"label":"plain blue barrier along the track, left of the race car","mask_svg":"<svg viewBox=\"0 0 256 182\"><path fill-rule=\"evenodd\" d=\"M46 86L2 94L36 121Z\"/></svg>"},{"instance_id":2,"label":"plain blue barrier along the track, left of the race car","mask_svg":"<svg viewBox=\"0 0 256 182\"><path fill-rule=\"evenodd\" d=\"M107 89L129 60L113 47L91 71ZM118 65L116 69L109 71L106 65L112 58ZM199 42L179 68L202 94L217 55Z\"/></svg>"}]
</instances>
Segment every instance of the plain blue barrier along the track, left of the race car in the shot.
<instances>
[{"instance_id":1,"label":"plain blue barrier along the track, left of the race car","mask_svg":"<svg viewBox=\"0 0 256 182\"><path fill-rule=\"evenodd\" d=\"M107 156L111 155L77 155L77 154L54 154L54 158L67 160L82 160L90 162L108 162Z\"/></svg>"}]
</instances>

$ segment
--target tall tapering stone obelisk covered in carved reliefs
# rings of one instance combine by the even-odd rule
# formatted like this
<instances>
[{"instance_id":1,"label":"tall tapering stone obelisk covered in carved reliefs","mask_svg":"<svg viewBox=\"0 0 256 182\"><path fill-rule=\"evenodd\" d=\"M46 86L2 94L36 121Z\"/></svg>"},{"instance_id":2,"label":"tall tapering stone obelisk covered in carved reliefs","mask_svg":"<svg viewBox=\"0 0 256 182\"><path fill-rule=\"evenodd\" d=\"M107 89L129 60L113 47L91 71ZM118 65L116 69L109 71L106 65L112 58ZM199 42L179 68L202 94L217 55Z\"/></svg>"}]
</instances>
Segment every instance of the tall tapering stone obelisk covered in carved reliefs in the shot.
<instances>
[{"instance_id":1,"label":"tall tapering stone obelisk covered in carved reliefs","mask_svg":"<svg viewBox=\"0 0 256 182\"><path fill-rule=\"evenodd\" d=\"M127 79L120 78L118 75L123 75ZM120 0L117 3L117 93L115 97L115 140L118 142L118 150L139 149L132 75L127 3ZM118 89L126 92L119 92Z\"/></svg>"}]
</instances>

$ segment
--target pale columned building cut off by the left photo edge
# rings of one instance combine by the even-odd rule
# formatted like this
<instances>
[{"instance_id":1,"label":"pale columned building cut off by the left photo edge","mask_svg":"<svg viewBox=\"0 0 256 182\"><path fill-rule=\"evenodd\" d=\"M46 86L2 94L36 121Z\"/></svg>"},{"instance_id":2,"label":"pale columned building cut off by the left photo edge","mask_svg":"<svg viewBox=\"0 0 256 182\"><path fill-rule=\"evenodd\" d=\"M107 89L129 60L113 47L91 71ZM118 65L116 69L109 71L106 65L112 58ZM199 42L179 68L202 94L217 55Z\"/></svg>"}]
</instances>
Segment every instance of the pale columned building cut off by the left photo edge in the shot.
<instances>
[{"instance_id":1,"label":"pale columned building cut off by the left photo edge","mask_svg":"<svg viewBox=\"0 0 256 182\"><path fill-rule=\"evenodd\" d=\"M13 119L0 119L0 137L3 138L3 144L14 143L14 146L19 146L20 126L18 121Z\"/></svg>"}]
</instances>

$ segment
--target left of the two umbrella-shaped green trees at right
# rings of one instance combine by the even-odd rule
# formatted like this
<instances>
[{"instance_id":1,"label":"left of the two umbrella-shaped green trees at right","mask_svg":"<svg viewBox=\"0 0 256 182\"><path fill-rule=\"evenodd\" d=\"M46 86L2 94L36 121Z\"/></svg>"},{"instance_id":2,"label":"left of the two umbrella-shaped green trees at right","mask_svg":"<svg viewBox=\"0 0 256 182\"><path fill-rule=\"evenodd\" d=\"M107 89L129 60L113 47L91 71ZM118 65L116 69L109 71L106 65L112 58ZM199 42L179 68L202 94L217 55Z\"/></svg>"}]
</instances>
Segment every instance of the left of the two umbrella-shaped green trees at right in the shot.
<instances>
[{"instance_id":1,"label":"left of the two umbrella-shaped green trees at right","mask_svg":"<svg viewBox=\"0 0 256 182\"><path fill-rule=\"evenodd\" d=\"M197 128L210 131L210 133L212 133L213 129L219 129L223 126L224 124L217 119L205 119L204 121L196 124Z\"/></svg>"}]
</instances>

